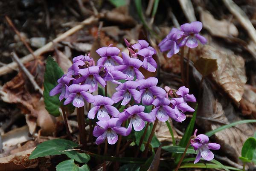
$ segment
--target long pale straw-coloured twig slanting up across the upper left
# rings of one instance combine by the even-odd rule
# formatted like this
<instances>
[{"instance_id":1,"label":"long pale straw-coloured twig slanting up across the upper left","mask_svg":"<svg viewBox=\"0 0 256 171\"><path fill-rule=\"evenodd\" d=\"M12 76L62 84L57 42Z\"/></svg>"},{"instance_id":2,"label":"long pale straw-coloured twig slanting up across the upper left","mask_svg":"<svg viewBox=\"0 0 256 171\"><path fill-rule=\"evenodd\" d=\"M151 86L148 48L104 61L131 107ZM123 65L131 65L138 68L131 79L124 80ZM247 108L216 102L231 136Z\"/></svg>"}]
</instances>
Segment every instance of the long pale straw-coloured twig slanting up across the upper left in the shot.
<instances>
[{"instance_id":1,"label":"long pale straw-coloured twig slanting up across the upper left","mask_svg":"<svg viewBox=\"0 0 256 171\"><path fill-rule=\"evenodd\" d=\"M84 26L92 24L93 22L96 22L96 21L98 21L98 18L96 18L94 16L91 16L91 17L87 18L86 20L82 21L79 25L74 26L73 28L69 29L67 32L64 32L58 38L55 38L52 42L49 42L46 45L44 45L43 47L37 49L34 52L34 55L39 56L42 53L49 51L53 46L53 42L58 43L59 41L63 40L64 38L67 38L68 36L74 34L78 30L82 29ZM29 54L29 55L26 55L23 58L21 58L20 62L21 63L26 63L26 62L32 61L33 59L34 59L33 55ZM17 63L16 62L12 62L10 64L7 64L6 66L0 67L0 75L4 75L6 73L9 73L10 71L12 71L12 68L17 68Z\"/></svg>"}]
</instances>

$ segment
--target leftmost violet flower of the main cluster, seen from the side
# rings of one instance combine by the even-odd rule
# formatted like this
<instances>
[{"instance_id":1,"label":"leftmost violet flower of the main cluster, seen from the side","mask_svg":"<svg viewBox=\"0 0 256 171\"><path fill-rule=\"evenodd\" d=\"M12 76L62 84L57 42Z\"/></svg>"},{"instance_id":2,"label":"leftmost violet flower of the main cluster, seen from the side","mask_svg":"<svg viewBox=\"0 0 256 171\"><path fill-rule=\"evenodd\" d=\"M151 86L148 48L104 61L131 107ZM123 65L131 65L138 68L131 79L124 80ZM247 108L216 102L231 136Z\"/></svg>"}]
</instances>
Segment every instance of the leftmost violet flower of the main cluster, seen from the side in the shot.
<instances>
[{"instance_id":1,"label":"leftmost violet flower of the main cluster, seen from the side","mask_svg":"<svg viewBox=\"0 0 256 171\"><path fill-rule=\"evenodd\" d=\"M58 84L50 91L49 96L55 96L56 94L61 93L59 96L59 100L61 101L64 98L67 99L69 93L68 86L65 84L63 80L63 77L65 76L66 75L62 75L62 77L58 79Z\"/></svg>"}]
</instances>

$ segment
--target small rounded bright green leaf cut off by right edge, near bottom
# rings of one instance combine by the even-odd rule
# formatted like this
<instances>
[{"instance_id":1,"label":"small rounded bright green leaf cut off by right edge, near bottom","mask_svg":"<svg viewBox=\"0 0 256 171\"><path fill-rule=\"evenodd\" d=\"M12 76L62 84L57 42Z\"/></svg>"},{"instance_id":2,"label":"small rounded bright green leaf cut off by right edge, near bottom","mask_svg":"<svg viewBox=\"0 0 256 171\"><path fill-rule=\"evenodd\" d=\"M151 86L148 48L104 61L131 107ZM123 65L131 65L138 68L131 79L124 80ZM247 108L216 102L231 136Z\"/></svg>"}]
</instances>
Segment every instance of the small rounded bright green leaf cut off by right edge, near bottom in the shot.
<instances>
[{"instance_id":1,"label":"small rounded bright green leaf cut off by right edge, near bottom","mask_svg":"<svg viewBox=\"0 0 256 171\"><path fill-rule=\"evenodd\" d=\"M252 160L253 153L256 151L256 139L254 137L248 138L242 148L242 157Z\"/></svg>"}]
</instances>

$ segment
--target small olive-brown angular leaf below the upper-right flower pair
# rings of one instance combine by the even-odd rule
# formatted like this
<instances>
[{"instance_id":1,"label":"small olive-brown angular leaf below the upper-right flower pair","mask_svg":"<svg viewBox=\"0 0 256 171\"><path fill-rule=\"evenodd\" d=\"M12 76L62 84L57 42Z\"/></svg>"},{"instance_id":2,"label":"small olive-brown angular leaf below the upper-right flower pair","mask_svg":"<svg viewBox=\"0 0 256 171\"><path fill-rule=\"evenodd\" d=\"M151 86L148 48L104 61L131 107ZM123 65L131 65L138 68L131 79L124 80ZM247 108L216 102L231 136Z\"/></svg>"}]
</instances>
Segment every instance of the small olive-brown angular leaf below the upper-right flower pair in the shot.
<instances>
[{"instance_id":1,"label":"small olive-brown angular leaf below the upper-right flower pair","mask_svg":"<svg viewBox=\"0 0 256 171\"><path fill-rule=\"evenodd\" d=\"M218 70L217 59L199 58L195 61L195 68L204 76Z\"/></svg>"}]
</instances>

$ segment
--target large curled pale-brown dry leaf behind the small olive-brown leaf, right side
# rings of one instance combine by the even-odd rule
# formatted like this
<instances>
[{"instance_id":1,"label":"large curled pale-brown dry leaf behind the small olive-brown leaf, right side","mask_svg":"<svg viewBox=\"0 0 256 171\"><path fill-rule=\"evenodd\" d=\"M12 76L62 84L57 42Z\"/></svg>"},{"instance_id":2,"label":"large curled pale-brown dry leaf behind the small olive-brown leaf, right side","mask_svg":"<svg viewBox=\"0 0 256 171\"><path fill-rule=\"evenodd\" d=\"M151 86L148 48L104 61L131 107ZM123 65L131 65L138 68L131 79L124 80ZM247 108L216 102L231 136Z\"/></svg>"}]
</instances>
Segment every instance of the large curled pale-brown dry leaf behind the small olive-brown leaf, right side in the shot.
<instances>
[{"instance_id":1,"label":"large curled pale-brown dry leaf behind the small olive-brown leaf, right side","mask_svg":"<svg viewBox=\"0 0 256 171\"><path fill-rule=\"evenodd\" d=\"M201 48L200 56L217 60L218 70L212 73L213 79L228 93L236 104L239 103L247 81L243 58L238 55L227 54L208 45Z\"/></svg>"}]
</instances>

